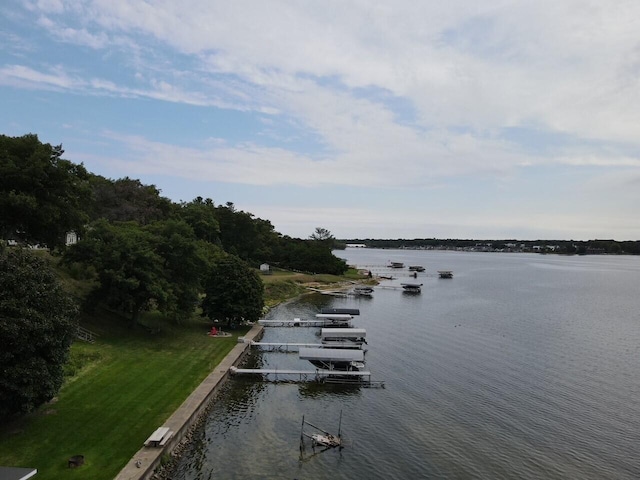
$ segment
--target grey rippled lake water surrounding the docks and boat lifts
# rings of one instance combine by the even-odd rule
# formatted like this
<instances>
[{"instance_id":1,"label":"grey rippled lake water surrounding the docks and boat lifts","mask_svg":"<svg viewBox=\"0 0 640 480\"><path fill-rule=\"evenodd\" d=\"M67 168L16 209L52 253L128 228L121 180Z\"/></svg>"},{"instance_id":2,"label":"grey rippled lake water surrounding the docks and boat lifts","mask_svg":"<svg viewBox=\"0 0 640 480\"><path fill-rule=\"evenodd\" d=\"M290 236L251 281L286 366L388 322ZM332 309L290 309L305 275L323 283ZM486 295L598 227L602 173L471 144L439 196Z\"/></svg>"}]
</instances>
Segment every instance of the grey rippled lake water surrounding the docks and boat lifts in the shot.
<instances>
[{"instance_id":1,"label":"grey rippled lake water surrounding the docks and boat lifts","mask_svg":"<svg viewBox=\"0 0 640 480\"><path fill-rule=\"evenodd\" d=\"M234 378L172 478L640 478L640 257L336 254L398 278L269 318L359 308L367 370L386 388ZM422 293L387 288L416 281L389 261L423 265ZM317 342L318 330L268 328L263 341ZM295 353L251 365L311 367ZM341 411L346 448L301 455L302 416L335 433Z\"/></svg>"}]
</instances>

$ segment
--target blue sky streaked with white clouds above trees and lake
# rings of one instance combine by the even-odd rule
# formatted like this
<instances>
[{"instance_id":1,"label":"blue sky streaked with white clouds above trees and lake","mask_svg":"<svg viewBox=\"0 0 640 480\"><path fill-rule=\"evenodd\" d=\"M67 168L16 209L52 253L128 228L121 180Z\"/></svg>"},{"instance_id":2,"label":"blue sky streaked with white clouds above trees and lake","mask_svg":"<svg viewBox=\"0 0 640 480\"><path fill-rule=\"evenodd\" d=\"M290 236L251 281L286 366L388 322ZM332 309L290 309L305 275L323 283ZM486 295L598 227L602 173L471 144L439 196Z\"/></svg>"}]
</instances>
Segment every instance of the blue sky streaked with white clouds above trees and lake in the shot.
<instances>
[{"instance_id":1,"label":"blue sky streaked with white clouds above trees and lake","mask_svg":"<svg viewBox=\"0 0 640 480\"><path fill-rule=\"evenodd\" d=\"M307 238L640 239L637 0L3 0L0 134Z\"/></svg>"}]
</instances>

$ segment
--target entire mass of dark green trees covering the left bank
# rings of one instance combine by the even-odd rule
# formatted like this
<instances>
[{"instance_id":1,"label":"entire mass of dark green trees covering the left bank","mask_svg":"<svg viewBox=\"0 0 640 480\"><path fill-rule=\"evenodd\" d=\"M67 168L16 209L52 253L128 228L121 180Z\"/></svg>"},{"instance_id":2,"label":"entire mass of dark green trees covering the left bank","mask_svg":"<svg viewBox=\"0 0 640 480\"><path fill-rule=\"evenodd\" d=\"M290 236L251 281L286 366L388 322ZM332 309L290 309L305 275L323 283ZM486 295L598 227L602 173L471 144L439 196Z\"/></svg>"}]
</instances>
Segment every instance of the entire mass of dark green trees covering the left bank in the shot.
<instances>
[{"instance_id":1,"label":"entire mass of dark green trees covering the left bank","mask_svg":"<svg viewBox=\"0 0 640 480\"><path fill-rule=\"evenodd\" d=\"M80 308L105 306L132 326L152 309L178 323L196 307L227 324L257 320L262 263L347 270L324 229L291 238L231 202L172 202L155 185L93 174L63 154L62 145L34 134L0 135L0 417L26 413L55 394L78 314L47 262L7 244L47 248L71 275L94 285ZM69 232L77 243L66 244Z\"/></svg>"}]
</instances>

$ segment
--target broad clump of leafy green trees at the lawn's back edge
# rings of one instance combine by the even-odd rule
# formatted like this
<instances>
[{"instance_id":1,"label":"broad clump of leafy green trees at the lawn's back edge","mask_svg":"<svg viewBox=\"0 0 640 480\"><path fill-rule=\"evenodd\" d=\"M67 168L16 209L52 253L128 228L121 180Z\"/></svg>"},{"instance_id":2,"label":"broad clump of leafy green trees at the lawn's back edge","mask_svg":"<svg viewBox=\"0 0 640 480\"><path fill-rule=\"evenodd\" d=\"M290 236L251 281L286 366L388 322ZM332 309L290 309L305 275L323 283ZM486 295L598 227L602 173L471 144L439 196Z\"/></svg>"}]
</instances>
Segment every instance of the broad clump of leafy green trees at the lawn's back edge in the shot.
<instances>
[{"instance_id":1,"label":"broad clump of leafy green trees at the lawn's back edge","mask_svg":"<svg viewBox=\"0 0 640 480\"><path fill-rule=\"evenodd\" d=\"M130 315L132 325L151 308L180 321L193 313L208 259L214 256L207 249L214 248L179 220L141 226L103 219L68 249L65 262L91 265L97 272L99 286L91 304L102 301Z\"/></svg>"}]
</instances>

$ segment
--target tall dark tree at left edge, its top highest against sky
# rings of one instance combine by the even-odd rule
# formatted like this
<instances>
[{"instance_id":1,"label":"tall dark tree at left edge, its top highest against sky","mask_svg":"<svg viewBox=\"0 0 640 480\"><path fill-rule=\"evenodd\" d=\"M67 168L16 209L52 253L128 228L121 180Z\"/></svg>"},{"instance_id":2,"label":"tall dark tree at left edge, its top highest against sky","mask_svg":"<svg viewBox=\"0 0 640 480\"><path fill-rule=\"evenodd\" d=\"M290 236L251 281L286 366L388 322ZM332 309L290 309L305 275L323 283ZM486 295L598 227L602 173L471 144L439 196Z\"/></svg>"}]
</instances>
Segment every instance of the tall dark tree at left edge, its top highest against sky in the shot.
<instances>
[{"instance_id":1,"label":"tall dark tree at left edge, its top highest against sky","mask_svg":"<svg viewBox=\"0 0 640 480\"><path fill-rule=\"evenodd\" d=\"M84 166L63 160L62 146L37 135L0 135L0 236L49 248L82 231L90 189Z\"/></svg>"}]
</instances>

